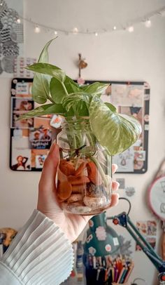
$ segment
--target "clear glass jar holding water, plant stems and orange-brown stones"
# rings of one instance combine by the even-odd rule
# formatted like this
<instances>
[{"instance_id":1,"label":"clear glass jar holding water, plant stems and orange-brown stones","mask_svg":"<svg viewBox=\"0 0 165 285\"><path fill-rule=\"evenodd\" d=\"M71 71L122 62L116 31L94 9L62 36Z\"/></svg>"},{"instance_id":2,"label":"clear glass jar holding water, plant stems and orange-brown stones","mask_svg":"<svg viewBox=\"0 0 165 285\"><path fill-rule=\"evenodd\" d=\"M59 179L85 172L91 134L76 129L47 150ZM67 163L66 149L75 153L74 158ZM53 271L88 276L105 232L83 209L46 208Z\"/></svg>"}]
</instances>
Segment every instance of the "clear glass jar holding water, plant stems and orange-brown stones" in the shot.
<instances>
[{"instance_id":1,"label":"clear glass jar holding water, plant stems and orange-brown stones","mask_svg":"<svg viewBox=\"0 0 165 285\"><path fill-rule=\"evenodd\" d=\"M101 213L110 205L111 157L96 140L89 119L67 119L57 135L57 197L64 211Z\"/></svg>"}]
</instances>

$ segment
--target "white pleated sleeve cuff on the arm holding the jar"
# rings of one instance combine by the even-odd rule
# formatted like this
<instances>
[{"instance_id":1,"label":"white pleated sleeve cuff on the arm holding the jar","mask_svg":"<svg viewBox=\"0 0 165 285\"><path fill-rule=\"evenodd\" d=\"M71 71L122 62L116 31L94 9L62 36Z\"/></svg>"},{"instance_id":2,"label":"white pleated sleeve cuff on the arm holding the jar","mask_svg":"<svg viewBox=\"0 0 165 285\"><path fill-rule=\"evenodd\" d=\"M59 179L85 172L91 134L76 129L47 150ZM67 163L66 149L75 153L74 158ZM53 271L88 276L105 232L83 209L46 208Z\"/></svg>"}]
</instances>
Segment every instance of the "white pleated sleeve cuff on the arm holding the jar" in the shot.
<instances>
[{"instance_id":1,"label":"white pleated sleeve cuff on the arm holding the jar","mask_svg":"<svg viewBox=\"0 0 165 285\"><path fill-rule=\"evenodd\" d=\"M0 284L58 285L73 267L73 249L62 230L34 210L0 260Z\"/></svg>"}]
</instances>

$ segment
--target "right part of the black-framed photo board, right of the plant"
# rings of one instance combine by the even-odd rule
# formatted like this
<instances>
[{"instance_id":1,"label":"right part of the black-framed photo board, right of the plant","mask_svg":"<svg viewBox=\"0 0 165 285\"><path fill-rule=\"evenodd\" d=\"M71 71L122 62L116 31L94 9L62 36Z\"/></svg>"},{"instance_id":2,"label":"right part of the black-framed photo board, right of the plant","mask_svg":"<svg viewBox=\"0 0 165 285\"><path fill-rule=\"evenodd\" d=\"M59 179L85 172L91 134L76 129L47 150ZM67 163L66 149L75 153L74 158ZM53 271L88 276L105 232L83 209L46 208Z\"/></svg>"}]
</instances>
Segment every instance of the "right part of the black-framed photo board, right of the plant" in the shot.
<instances>
[{"instance_id":1,"label":"right part of the black-framed photo board, right of the plant","mask_svg":"<svg viewBox=\"0 0 165 285\"><path fill-rule=\"evenodd\" d=\"M117 173L145 173L148 169L150 86L144 81L103 82L110 83L110 86L101 99L115 105L120 114L133 115L142 126L142 133L136 143L113 157L113 163L118 166ZM88 83L92 84L93 81Z\"/></svg>"}]
</instances>

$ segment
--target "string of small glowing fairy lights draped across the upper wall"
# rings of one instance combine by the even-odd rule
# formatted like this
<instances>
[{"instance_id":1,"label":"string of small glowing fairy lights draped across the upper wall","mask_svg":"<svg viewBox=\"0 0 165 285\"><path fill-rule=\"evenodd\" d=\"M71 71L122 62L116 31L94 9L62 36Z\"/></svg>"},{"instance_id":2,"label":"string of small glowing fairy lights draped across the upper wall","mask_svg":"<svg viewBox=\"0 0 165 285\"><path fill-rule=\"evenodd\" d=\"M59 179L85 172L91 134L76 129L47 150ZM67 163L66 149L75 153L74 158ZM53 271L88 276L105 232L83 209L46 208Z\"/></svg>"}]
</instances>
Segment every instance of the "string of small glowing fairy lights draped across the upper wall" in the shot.
<instances>
[{"instance_id":1,"label":"string of small glowing fairy lights draped across the upper wall","mask_svg":"<svg viewBox=\"0 0 165 285\"><path fill-rule=\"evenodd\" d=\"M0 0L0 6L3 5L3 2ZM152 18L155 16L165 16L165 6L162 8L157 9L156 11L152 11L151 13L143 15L143 17L136 18L134 20L131 20L129 24L124 25L113 25L110 29L101 29L101 30L95 30L90 31L89 29L81 30L78 29L78 27L73 27L73 29L57 29L56 27L50 27L47 25L43 25L41 23L35 22L34 20L31 20L31 18L24 18L22 16L19 16L17 18L16 22L17 24L21 24L22 22L27 22L30 25L34 27L34 32L36 34L40 32L52 32L57 36L57 34L93 34L94 36L98 37L99 34L106 34L110 32L117 32L121 30L126 30L128 32L134 32L134 27L140 23L144 25L146 28L150 28L152 26Z\"/></svg>"}]
</instances>

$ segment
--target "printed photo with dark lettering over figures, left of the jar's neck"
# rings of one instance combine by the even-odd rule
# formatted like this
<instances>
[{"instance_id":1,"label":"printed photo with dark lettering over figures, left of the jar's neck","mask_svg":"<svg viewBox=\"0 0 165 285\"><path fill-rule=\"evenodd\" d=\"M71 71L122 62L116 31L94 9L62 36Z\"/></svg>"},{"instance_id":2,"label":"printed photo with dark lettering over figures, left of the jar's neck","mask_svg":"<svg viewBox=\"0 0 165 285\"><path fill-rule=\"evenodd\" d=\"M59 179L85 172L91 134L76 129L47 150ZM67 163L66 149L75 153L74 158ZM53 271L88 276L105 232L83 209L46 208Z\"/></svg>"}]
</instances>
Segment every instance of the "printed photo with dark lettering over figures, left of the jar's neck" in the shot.
<instances>
[{"instance_id":1,"label":"printed photo with dark lettering over figures, left of the jar's neck","mask_svg":"<svg viewBox=\"0 0 165 285\"><path fill-rule=\"evenodd\" d=\"M31 149L50 149L52 143L52 131L49 128L35 128L29 131Z\"/></svg>"}]
</instances>

